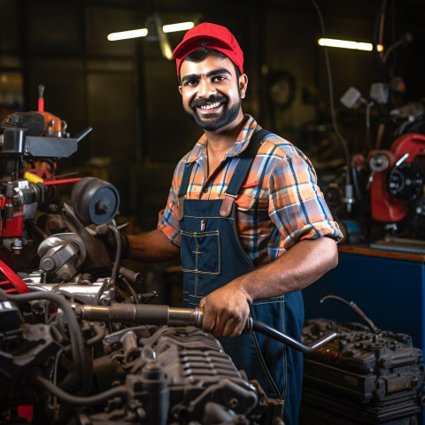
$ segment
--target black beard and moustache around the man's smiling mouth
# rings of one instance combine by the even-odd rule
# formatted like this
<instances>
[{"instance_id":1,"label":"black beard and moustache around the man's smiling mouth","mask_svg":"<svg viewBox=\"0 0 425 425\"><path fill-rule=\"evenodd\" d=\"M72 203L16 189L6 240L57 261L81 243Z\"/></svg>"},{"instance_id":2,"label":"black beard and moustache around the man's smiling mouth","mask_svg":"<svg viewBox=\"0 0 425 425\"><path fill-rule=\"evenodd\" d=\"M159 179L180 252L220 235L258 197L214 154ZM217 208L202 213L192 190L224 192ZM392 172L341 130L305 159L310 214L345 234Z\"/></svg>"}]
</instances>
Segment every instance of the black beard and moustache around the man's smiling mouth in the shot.
<instances>
[{"instance_id":1,"label":"black beard and moustache around the man's smiling mouth","mask_svg":"<svg viewBox=\"0 0 425 425\"><path fill-rule=\"evenodd\" d=\"M220 113L208 113L202 117L197 112L197 107L207 103L220 102L224 106L224 112ZM207 99L196 99L190 103L191 112L188 112L189 117L192 121L197 124L200 128L207 131L215 131L219 128L227 126L230 122L236 120L236 117L241 109L242 98L239 96L238 102L228 107L228 97L226 96L210 96Z\"/></svg>"}]
</instances>

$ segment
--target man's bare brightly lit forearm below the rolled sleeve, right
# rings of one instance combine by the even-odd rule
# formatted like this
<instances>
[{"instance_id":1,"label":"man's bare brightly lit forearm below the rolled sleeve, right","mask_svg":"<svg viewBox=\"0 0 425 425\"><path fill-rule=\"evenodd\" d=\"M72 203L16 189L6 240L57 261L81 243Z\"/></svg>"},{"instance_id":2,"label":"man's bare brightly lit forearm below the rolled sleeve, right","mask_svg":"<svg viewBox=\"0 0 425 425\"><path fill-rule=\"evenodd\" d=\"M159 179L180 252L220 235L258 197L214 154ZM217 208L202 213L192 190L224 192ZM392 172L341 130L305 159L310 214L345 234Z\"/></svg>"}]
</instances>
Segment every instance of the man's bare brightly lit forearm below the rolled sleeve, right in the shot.
<instances>
[{"instance_id":1,"label":"man's bare brightly lit forearm below the rolled sleeve, right","mask_svg":"<svg viewBox=\"0 0 425 425\"><path fill-rule=\"evenodd\" d=\"M230 282L239 286L251 303L302 290L336 267L336 242L328 237L297 243L278 259Z\"/></svg>"}]
</instances>

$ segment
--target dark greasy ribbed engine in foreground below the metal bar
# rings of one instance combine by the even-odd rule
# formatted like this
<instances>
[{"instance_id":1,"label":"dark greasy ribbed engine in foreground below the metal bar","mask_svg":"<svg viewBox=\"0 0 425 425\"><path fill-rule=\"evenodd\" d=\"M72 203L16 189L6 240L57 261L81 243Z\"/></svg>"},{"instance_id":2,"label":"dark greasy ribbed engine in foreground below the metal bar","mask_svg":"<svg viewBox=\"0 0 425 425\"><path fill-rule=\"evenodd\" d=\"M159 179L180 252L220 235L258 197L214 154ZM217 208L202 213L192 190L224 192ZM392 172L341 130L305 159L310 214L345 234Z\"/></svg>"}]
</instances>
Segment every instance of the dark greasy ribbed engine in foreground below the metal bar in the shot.
<instances>
[{"instance_id":1,"label":"dark greasy ribbed engine in foreground below the metal bar","mask_svg":"<svg viewBox=\"0 0 425 425\"><path fill-rule=\"evenodd\" d=\"M282 424L280 403L248 382L220 342L199 328L108 332L93 321L78 326L58 294L1 296L0 373L7 385L0 406L9 417L11 406L39 403L45 390L50 396L33 412L36 423ZM46 313L46 323L27 323L34 319L15 302L22 308L42 299L60 309Z\"/></svg>"}]
</instances>

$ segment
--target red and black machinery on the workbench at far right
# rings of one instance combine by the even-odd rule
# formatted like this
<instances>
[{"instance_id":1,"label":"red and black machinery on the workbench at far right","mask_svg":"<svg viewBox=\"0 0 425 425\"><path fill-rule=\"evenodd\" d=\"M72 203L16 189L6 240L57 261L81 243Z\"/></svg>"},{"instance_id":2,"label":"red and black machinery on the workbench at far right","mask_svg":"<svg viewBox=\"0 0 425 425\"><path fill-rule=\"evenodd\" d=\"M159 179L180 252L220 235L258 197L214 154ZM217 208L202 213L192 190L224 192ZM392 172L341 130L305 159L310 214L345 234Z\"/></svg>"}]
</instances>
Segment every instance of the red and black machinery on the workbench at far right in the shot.
<instances>
[{"instance_id":1,"label":"red and black machinery on the workbench at far right","mask_svg":"<svg viewBox=\"0 0 425 425\"><path fill-rule=\"evenodd\" d=\"M410 243L410 250L423 252L417 241L425 237L425 103L405 102L406 84L397 74L395 51L408 46L413 35L407 32L378 51L387 3L381 2L375 19L368 96L351 87L340 99L347 108L365 107L366 150L347 158L324 194L349 242L396 250Z\"/></svg>"}]
</instances>

